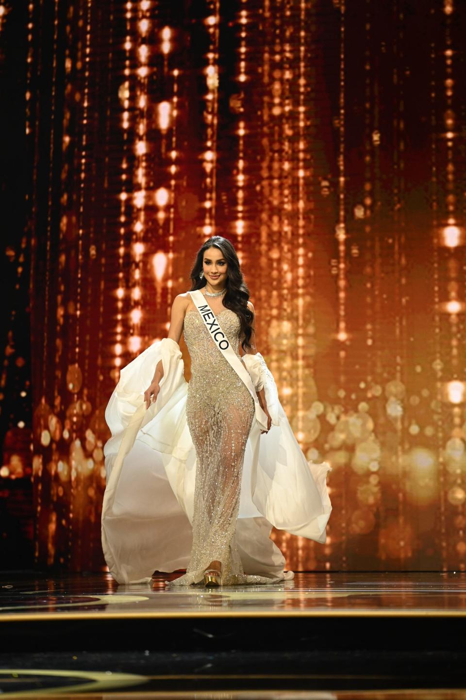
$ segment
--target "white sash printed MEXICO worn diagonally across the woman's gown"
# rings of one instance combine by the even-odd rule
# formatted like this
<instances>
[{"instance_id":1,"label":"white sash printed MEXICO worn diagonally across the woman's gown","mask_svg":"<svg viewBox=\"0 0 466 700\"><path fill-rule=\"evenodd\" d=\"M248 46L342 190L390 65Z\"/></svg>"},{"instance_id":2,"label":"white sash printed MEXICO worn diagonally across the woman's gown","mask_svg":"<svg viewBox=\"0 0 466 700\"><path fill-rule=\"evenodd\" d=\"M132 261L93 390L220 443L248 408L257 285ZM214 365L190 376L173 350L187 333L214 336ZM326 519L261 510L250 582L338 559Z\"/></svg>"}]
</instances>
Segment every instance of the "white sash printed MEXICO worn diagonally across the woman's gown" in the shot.
<instances>
[{"instance_id":1,"label":"white sash printed MEXICO worn diagonally across the woman's gown","mask_svg":"<svg viewBox=\"0 0 466 700\"><path fill-rule=\"evenodd\" d=\"M262 430L267 430L268 419L266 414L261 409L259 399L257 398L256 391L254 390L254 384L252 383L251 375L249 374L245 365L243 365L240 358L231 347L231 344L228 338L226 337L226 333L223 330L221 330L221 325L217 320L214 312L210 308L209 304L207 303L207 300L203 293L200 292L198 289L189 293L191 294L193 304L195 305L196 309L198 309L200 317L203 319L205 327L210 332L210 336L214 340L214 343L217 345L219 351L222 353L227 362L231 365L231 367L233 367L233 370L235 370L236 374L238 374L238 377L240 377L243 384L247 386L249 393L252 395L252 398L254 399L254 407L256 410L256 421L259 423L259 426L261 426Z\"/></svg>"}]
</instances>

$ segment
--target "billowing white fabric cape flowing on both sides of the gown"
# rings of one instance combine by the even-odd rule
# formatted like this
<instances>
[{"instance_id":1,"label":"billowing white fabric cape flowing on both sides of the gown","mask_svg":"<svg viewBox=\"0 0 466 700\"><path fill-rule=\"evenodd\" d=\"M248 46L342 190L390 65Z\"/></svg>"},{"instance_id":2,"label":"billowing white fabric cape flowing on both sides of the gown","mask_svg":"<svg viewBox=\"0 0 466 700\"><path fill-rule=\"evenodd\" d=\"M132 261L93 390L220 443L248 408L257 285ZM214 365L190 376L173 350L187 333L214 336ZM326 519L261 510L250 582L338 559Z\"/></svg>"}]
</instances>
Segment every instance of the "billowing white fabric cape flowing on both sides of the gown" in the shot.
<instances>
[{"instance_id":1,"label":"billowing white fabric cape flowing on both sides of the gown","mask_svg":"<svg viewBox=\"0 0 466 700\"><path fill-rule=\"evenodd\" d=\"M242 359L255 388L263 384L272 428L261 435L253 421L235 538L245 573L280 580L285 559L270 540L271 528L325 542L330 467L306 461L259 353ZM146 409L144 391L160 360L160 391ZM104 447L102 548L119 583L146 582L156 570L174 571L189 563L196 451L186 423L183 371L177 342L153 343L123 367L105 411L111 437Z\"/></svg>"}]
</instances>

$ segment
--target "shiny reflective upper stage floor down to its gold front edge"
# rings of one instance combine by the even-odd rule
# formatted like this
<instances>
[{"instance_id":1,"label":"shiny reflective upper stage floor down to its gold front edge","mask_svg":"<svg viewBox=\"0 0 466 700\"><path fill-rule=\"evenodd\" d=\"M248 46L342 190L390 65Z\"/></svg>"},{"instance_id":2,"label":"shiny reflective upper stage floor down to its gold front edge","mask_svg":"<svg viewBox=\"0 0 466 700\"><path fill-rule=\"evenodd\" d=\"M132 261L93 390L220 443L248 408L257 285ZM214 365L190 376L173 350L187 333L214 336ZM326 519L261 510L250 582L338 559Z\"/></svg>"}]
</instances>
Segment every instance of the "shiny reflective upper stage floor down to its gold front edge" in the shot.
<instances>
[{"instance_id":1,"label":"shiny reflective upper stage floor down to its gold front edge","mask_svg":"<svg viewBox=\"0 0 466 700\"><path fill-rule=\"evenodd\" d=\"M172 575L173 577L173 575ZM466 616L465 573L297 573L270 586L170 589L109 574L2 574L0 622L115 617Z\"/></svg>"}]
</instances>

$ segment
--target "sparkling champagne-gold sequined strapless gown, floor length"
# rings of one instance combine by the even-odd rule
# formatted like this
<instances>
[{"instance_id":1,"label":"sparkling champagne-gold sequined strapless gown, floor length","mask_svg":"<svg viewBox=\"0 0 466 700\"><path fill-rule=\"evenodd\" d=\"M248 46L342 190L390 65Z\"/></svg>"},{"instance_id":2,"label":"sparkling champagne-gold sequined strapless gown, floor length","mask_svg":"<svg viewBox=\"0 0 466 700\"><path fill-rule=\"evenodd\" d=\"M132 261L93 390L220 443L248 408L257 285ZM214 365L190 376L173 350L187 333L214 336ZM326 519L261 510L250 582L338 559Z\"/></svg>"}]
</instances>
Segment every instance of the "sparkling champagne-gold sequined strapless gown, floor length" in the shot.
<instances>
[{"instance_id":1,"label":"sparkling champagne-gold sequined strapless gown, floor length","mask_svg":"<svg viewBox=\"0 0 466 700\"><path fill-rule=\"evenodd\" d=\"M217 318L240 357L238 316L223 309ZM245 575L235 544L242 463L254 418L252 396L196 309L186 313L184 339L191 355L186 419L196 448L193 546L186 574L171 585L203 582L204 570L216 560L222 565L222 585L270 582Z\"/></svg>"}]
</instances>

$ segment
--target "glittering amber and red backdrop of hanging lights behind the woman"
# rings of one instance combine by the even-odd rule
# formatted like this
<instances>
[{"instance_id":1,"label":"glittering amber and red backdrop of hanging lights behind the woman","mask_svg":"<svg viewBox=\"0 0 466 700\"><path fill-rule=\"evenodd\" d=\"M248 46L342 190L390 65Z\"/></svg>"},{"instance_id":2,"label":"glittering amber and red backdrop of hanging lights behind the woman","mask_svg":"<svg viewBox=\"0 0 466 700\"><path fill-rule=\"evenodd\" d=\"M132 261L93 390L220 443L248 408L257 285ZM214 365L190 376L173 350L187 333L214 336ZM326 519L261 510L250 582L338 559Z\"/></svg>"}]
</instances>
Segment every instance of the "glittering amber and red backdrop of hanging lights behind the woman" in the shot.
<instances>
[{"instance_id":1,"label":"glittering amber and red backdrop of hanging lights behind the woman","mask_svg":"<svg viewBox=\"0 0 466 700\"><path fill-rule=\"evenodd\" d=\"M4 542L29 503L32 559L104 566L104 407L220 234L333 467L288 566L465 570L465 36L459 0L0 4Z\"/></svg>"}]
</instances>

